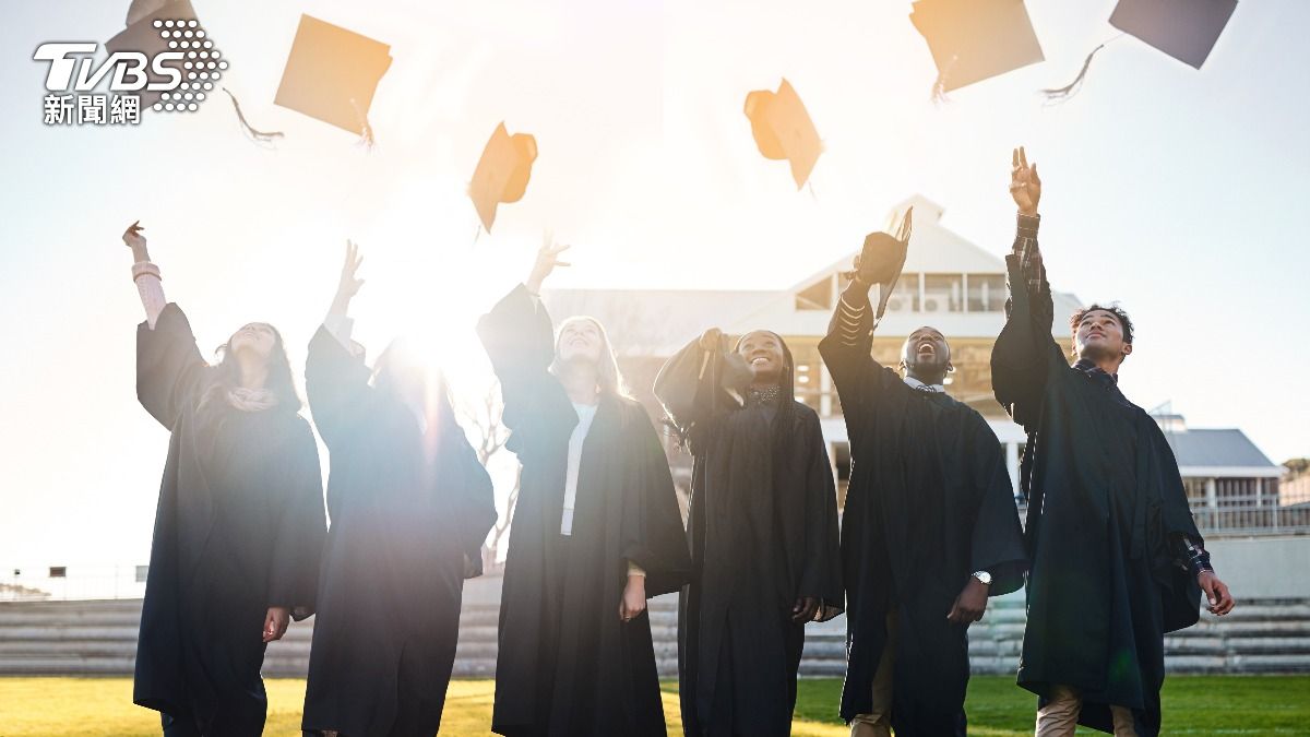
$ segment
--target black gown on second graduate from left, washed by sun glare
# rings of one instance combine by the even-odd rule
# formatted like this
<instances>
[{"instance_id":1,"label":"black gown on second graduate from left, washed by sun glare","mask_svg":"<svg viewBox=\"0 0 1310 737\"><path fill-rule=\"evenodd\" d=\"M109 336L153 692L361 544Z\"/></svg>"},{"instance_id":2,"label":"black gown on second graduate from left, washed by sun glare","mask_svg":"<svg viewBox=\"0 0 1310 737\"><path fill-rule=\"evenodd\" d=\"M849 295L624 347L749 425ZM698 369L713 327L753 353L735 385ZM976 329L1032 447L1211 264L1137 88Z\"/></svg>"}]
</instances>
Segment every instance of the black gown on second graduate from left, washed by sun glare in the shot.
<instances>
[{"instance_id":1,"label":"black gown on second graduate from left, washed by sun glare","mask_svg":"<svg viewBox=\"0 0 1310 737\"><path fill-rule=\"evenodd\" d=\"M464 557L481 564L491 480L449 401L435 434L325 328L305 389L331 455L331 528L309 654L305 730L431 736L455 664ZM431 445L428 445L431 443Z\"/></svg>"}]
</instances>

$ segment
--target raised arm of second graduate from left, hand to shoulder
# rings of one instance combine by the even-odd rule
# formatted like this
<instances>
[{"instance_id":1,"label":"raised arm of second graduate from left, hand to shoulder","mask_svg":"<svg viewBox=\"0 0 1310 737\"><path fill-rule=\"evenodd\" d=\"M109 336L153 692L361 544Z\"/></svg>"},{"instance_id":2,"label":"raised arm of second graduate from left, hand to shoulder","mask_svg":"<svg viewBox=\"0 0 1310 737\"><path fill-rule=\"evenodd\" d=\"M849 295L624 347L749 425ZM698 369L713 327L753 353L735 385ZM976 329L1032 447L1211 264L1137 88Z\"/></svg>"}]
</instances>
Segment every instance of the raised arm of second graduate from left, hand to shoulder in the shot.
<instances>
[{"instance_id":1,"label":"raised arm of second graduate from left, hand to shoulder","mask_svg":"<svg viewBox=\"0 0 1310 737\"><path fill-rule=\"evenodd\" d=\"M309 341L309 357L305 362L309 410L329 446L350 429L369 393L371 371L364 365L364 349L350 337L354 328L350 302L364 286L364 281L358 277L363 261L359 247L346 241L346 262L341 269L337 294L322 327Z\"/></svg>"}]
</instances>

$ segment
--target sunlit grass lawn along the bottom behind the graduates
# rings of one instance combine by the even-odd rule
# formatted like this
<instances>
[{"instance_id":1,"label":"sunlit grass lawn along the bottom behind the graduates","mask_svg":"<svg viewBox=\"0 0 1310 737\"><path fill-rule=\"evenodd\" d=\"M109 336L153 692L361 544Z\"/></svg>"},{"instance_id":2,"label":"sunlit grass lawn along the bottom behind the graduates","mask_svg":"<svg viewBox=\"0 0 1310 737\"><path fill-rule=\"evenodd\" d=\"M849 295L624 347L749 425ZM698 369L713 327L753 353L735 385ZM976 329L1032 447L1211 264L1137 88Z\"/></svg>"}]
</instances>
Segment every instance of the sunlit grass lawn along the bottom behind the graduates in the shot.
<instances>
[{"instance_id":1,"label":"sunlit grass lawn along the bottom behind the graduates","mask_svg":"<svg viewBox=\"0 0 1310 737\"><path fill-rule=\"evenodd\" d=\"M305 682L269 679L270 737L299 737ZM159 734L155 712L131 703L130 678L0 678L0 737L147 737ZM681 733L677 685L665 683L669 733ZM841 682L800 682L793 734L848 734L836 719ZM969 733L1032 734L1035 699L1011 677L969 682ZM491 682L455 681L445 699L441 734L490 734ZM1079 732L1082 733L1082 732ZM1310 677L1179 675L1165 685L1166 734L1307 734Z\"/></svg>"}]
</instances>

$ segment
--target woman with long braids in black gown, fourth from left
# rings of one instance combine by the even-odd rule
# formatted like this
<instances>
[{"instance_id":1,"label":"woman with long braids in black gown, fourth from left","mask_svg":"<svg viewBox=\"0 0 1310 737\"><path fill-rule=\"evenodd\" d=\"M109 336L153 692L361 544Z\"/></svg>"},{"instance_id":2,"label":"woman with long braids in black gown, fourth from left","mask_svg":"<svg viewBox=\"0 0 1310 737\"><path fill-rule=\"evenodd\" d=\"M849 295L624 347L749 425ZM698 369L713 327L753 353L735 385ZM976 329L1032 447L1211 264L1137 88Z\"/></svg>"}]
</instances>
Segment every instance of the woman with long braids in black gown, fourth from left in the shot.
<instances>
[{"instance_id":1,"label":"woman with long braids in black gown, fourth from left","mask_svg":"<svg viewBox=\"0 0 1310 737\"><path fill-rule=\"evenodd\" d=\"M779 336L756 330L724 350L717 329L656 380L693 455L694 578L679 611L686 734L789 734L804 624L842 611L832 466L793 382Z\"/></svg>"}]
</instances>

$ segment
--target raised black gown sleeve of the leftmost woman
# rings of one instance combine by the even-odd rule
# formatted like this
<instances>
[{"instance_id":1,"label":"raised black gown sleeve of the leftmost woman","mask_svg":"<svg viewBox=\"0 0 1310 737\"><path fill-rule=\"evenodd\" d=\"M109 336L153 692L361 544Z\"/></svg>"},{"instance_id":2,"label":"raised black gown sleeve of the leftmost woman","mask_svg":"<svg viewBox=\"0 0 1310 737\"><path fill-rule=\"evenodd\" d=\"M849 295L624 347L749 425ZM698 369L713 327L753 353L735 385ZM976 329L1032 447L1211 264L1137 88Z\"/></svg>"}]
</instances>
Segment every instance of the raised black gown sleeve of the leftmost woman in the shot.
<instances>
[{"instance_id":1,"label":"raised black gown sleeve of the leftmost woman","mask_svg":"<svg viewBox=\"0 0 1310 737\"><path fill-rule=\"evenodd\" d=\"M164 307L155 329L148 323L136 327L136 399L160 425L172 430L183 409L199 400L212 372L176 303Z\"/></svg>"}]
</instances>

